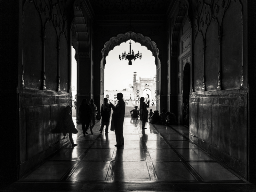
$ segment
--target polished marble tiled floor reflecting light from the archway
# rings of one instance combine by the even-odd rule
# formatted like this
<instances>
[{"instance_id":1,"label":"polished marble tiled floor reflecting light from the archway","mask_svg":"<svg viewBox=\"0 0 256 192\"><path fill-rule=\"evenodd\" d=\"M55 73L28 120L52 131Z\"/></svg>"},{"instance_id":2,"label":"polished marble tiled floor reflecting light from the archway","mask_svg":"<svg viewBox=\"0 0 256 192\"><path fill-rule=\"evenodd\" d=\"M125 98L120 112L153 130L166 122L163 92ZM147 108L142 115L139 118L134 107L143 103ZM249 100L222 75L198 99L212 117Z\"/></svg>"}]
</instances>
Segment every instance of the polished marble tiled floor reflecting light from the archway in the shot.
<instances>
[{"instance_id":1,"label":"polished marble tiled floor reflecting light from the archway","mask_svg":"<svg viewBox=\"0 0 256 192\"><path fill-rule=\"evenodd\" d=\"M128 113L132 107L128 107ZM254 185L223 167L189 141L183 126L146 123L127 117L124 146L115 133L78 134L7 191L249 191ZM76 122L76 119L74 118ZM104 130L105 131L105 130Z\"/></svg>"}]
</instances>

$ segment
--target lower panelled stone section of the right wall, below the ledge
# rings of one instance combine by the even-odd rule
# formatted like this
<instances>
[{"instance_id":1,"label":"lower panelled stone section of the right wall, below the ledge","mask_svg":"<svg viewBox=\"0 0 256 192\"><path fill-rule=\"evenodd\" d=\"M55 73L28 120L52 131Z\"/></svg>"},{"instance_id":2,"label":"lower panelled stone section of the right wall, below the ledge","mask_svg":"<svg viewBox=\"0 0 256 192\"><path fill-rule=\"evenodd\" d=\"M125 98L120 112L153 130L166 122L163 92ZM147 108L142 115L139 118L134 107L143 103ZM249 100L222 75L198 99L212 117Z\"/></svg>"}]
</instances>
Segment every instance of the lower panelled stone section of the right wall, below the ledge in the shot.
<instances>
[{"instance_id":1,"label":"lower panelled stone section of the right wall, below the ledge","mask_svg":"<svg viewBox=\"0 0 256 192\"><path fill-rule=\"evenodd\" d=\"M246 178L247 93L218 93L190 95L190 139Z\"/></svg>"}]
</instances>

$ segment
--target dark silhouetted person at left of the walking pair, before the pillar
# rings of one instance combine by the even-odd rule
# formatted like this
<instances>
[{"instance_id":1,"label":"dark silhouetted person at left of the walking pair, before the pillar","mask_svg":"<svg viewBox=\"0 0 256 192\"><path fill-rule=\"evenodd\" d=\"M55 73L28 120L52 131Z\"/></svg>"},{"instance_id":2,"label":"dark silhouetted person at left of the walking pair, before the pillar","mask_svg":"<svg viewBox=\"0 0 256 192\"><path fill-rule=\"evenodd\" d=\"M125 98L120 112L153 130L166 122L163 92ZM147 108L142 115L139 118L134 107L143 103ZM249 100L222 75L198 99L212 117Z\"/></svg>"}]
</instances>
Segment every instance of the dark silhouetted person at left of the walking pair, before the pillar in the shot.
<instances>
[{"instance_id":1,"label":"dark silhouetted person at left of the walking pair, before the pillar","mask_svg":"<svg viewBox=\"0 0 256 192\"><path fill-rule=\"evenodd\" d=\"M87 104L87 100L83 99L82 104L80 105L80 107L78 109L78 121L80 121L82 123L82 130L84 133L84 137L85 137L85 133L88 134L87 129L91 123L91 116L92 116L92 110L89 107L89 105ZM91 130L91 132L92 132L92 130Z\"/></svg>"}]
</instances>

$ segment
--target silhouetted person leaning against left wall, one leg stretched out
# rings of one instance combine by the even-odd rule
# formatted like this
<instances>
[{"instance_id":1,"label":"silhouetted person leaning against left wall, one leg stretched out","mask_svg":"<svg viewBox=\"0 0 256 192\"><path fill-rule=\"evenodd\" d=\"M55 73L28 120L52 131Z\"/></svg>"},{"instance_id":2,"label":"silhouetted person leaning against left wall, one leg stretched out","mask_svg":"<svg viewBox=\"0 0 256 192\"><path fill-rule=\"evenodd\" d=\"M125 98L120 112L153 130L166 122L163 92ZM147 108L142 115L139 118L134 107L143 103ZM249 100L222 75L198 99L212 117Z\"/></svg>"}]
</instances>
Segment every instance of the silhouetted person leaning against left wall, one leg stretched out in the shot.
<instances>
[{"instance_id":1,"label":"silhouetted person leaning against left wall, one leg stretched out","mask_svg":"<svg viewBox=\"0 0 256 192\"><path fill-rule=\"evenodd\" d=\"M76 132L77 130L70 112L71 112L71 107L68 105L62 113L63 127L65 131L68 133L69 140L72 146L76 146L77 144L74 143L72 132Z\"/></svg>"}]
</instances>

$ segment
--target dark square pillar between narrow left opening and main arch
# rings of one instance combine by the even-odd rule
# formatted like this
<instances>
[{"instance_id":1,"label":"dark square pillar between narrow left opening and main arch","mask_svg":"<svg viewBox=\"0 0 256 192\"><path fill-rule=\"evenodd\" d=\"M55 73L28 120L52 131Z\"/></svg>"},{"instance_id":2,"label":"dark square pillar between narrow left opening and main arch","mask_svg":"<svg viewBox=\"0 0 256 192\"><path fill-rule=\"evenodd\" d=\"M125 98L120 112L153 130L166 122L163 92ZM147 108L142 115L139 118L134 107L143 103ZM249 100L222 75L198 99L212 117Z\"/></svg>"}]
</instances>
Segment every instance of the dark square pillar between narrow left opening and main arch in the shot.
<instances>
[{"instance_id":1,"label":"dark square pillar between narrow left opening and main arch","mask_svg":"<svg viewBox=\"0 0 256 192\"><path fill-rule=\"evenodd\" d=\"M91 72L90 72L90 52L77 53L77 95L76 103L77 108L82 103L83 99L87 99L89 103L91 99ZM78 118L78 110L76 110Z\"/></svg>"}]
</instances>

